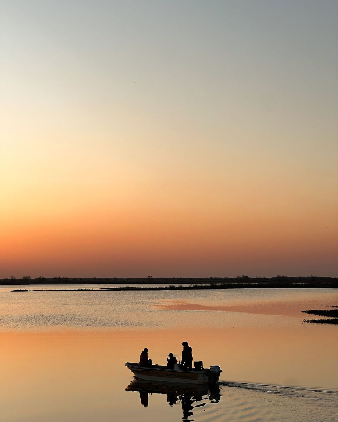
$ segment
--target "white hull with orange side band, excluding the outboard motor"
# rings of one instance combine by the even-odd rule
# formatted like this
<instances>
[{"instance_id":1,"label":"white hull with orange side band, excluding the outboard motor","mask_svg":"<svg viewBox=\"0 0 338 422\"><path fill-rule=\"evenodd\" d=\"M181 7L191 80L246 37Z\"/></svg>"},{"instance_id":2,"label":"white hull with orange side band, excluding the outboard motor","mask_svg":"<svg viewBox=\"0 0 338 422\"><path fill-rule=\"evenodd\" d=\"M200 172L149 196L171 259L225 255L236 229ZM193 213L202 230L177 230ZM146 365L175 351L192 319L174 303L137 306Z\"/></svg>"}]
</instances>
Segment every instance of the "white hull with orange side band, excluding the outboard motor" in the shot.
<instances>
[{"instance_id":1,"label":"white hull with orange side band, excluding the outboard motor","mask_svg":"<svg viewBox=\"0 0 338 422\"><path fill-rule=\"evenodd\" d=\"M177 371L169 370L159 365L145 368L130 362L127 362L126 366L136 378L148 381L180 382L187 384L208 384L211 381L211 377L207 371Z\"/></svg>"}]
</instances>

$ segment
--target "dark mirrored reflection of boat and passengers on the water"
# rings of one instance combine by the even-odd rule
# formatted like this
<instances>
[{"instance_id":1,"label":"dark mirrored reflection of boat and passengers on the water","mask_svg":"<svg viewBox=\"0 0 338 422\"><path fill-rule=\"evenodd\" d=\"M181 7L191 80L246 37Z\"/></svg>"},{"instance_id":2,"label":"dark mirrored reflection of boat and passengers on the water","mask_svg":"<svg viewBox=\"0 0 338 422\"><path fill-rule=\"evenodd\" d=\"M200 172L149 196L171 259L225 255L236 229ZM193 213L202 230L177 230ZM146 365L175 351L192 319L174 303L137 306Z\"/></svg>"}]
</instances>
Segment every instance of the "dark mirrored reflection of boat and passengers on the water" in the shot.
<instances>
[{"instance_id":1,"label":"dark mirrored reflection of boat and passengers on the water","mask_svg":"<svg viewBox=\"0 0 338 422\"><path fill-rule=\"evenodd\" d=\"M126 391L138 391L144 407L149 405L149 394L153 393L165 394L169 406L181 402L183 420L189 420L195 407L204 406L206 403L218 403L222 396L217 384L162 384L136 378L128 385Z\"/></svg>"}]
</instances>

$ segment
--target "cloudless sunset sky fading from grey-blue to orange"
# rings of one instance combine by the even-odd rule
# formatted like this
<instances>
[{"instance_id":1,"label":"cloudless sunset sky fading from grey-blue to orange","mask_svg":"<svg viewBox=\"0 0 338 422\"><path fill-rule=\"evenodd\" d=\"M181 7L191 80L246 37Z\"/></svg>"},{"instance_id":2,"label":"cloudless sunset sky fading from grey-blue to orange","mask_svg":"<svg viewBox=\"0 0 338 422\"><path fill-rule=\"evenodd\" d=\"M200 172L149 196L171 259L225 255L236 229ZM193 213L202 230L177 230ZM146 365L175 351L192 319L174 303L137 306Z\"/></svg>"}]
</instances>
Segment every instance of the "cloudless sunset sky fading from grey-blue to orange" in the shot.
<instances>
[{"instance_id":1,"label":"cloudless sunset sky fading from grey-blue to orange","mask_svg":"<svg viewBox=\"0 0 338 422\"><path fill-rule=\"evenodd\" d=\"M0 14L0 277L338 276L337 1Z\"/></svg>"}]
</instances>

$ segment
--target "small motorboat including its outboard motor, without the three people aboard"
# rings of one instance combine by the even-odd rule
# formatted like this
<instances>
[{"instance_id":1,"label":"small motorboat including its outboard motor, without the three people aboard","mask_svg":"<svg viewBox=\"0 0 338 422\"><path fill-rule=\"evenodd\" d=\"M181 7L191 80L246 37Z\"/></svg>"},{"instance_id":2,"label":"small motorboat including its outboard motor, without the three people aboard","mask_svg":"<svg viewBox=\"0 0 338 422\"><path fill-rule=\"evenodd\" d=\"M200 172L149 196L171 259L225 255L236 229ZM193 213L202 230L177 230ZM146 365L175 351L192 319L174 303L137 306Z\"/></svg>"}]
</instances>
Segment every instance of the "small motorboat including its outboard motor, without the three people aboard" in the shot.
<instances>
[{"instance_id":1,"label":"small motorboat including its outboard motor, without the three people aboard","mask_svg":"<svg viewBox=\"0 0 338 422\"><path fill-rule=\"evenodd\" d=\"M195 368L191 371L185 370L177 363L174 369L168 369L164 365L140 366L139 363L133 362L127 362L125 365L132 371L136 379L189 384L217 383L222 372L222 369L218 365L213 365L209 369L205 369L202 366L202 362L195 362Z\"/></svg>"}]
</instances>

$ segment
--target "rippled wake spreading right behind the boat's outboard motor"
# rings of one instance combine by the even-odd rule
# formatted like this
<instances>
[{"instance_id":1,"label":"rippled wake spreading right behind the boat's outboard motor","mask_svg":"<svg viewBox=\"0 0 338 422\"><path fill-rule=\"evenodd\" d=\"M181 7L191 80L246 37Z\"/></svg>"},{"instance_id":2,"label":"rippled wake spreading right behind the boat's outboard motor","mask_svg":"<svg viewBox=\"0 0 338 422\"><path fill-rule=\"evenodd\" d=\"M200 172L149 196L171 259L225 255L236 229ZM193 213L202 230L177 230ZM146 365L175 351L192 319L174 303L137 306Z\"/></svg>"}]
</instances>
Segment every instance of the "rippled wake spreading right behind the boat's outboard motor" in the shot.
<instances>
[{"instance_id":1,"label":"rippled wake spreading right behind the boat's outboard motor","mask_svg":"<svg viewBox=\"0 0 338 422\"><path fill-rule=\"evenodd\" d=\"M221 383L220 398L180 397L183 420L195 422L336 421L336 390ZM179 402L178 402L179 403ZM176 403L176 404L178 404ZM187 407L188 403L188 407ZM190 407L189 407L190 406ZM311 415L311 419L309 419Z\"/></svg>"}]
</instances>

